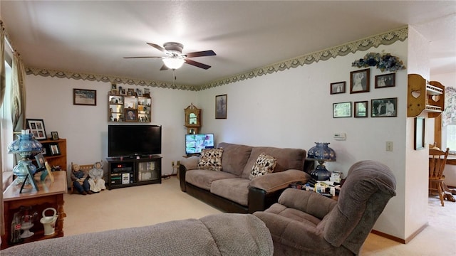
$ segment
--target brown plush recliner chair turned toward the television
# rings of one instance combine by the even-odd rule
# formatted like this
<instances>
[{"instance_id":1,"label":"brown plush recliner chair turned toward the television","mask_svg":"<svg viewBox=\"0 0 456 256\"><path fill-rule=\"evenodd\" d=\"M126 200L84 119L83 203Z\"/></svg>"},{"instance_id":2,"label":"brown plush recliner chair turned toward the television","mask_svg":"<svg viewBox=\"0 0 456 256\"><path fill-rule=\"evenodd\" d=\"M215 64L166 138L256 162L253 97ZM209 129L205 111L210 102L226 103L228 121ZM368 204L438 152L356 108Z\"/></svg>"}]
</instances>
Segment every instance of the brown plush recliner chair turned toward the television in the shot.
<instances>
[{"instance_id":1,"label":"brown plush recliner chair turned toward the television","mask_svg":"<svg viewBox=\"0 0 456 256\"><path fill-rule=\"evenodd\" d=\"M279 202L256 212L274 242L274 255L358 255L375 221L395 196L388 166L359 161L351 166L338 201L287 188Z\"/></svg>"}]
</instances>

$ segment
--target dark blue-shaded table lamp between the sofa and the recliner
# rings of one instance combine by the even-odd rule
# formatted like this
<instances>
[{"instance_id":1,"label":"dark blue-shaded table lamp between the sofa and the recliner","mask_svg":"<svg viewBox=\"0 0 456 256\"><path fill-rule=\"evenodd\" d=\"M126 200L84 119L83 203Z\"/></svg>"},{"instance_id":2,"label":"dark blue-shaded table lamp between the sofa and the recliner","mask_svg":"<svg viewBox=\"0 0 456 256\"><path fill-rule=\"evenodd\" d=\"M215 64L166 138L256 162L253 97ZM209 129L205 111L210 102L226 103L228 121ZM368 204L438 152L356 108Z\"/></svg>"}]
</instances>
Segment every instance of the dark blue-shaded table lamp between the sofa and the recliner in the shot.
<instances>
[{"instance_id":1,"label":"dark blue-shaded table lamp between the sofa and the recliner","mask_svg":"<svg viewBox=\"0 0 456 256\"><path fill-rule=\"evenodd\" d=\"M331 177L331 171L326 169L325 161L336 161L336 152L328 146L328 142L315 142L316 146L309 149L307 159L318 161L316 169L310 175L317 181L327 181Z\"/></svg>"}]
</instances>

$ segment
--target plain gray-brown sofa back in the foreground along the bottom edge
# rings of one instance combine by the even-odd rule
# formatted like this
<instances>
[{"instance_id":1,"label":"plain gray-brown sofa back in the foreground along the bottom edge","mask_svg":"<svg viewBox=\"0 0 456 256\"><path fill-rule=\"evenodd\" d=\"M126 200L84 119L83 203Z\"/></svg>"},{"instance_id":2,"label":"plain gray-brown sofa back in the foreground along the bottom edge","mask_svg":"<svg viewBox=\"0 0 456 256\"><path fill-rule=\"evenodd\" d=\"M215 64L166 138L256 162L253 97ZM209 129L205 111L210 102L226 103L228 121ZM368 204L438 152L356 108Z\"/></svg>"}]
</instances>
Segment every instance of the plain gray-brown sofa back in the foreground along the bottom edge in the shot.
<instances>
[{"instance_id":1,"label":"plain gray-brown sofa back in the foreground along the bottom edge","mask_svg":"<svg viewBox=\"0 0 456 256\"><path fill-rule=\"evenodd\" d=\"M222 213L139 228L108 230L16 245L2 256L273 254L271 234L251 214Z\"/></svg>"}]
</instances>

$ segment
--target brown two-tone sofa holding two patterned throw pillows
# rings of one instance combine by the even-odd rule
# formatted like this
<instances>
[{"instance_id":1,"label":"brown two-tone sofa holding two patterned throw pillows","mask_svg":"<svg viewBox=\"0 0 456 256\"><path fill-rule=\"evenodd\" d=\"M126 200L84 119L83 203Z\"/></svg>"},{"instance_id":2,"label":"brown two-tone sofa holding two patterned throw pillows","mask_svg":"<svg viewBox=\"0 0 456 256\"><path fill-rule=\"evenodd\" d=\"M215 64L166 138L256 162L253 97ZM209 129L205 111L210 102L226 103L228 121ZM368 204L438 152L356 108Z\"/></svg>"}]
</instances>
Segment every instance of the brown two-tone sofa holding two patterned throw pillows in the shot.
<instances>
[{"instance_id":1,"label":"brown two-tone sofa holding two patterned throw pillows","mask_svg":"<svg viewBox=\"0 0 456 256\"><path fill-rule=\"evenodd\" d=\"M198 169L199 156L180 161L180 188L200 200L229 213L254 213L276 203L290 183L306 182L314 161L306 161L304 149L246 146L222 142L222 171ZM250 180L258 156L277 160L274 172Z\"/></svg>"}]
</instances>

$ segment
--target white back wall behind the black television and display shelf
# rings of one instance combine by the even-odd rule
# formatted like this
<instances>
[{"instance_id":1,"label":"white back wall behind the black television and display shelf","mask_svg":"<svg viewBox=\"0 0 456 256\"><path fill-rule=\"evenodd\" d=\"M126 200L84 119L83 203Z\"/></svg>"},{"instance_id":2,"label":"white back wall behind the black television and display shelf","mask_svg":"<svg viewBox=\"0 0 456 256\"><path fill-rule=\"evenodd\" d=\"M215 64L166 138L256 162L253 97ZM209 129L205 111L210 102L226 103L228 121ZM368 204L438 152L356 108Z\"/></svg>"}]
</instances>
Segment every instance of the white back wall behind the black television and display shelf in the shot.
<instances>
[{"instance_id":1,"label":"white back wall behind the black television and display shelf","mask_svg":"<svg viewBox=\"0 0 456 256\"><path fill-rule=\"evenodd\" d=\"M97 105L73 105L73 88L96 90ZM109 90L108 82L26 76L26 118L43 119L48 137L56 131L67 139L67 169L71 162L91 164L108 156ZM197 92L155 87L150 92L150 124L162 125L162 175L171 174L171 162L185 154L184 109L197 105Z\"/></svg>"}]
</instances>

